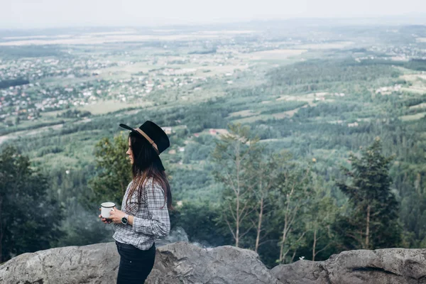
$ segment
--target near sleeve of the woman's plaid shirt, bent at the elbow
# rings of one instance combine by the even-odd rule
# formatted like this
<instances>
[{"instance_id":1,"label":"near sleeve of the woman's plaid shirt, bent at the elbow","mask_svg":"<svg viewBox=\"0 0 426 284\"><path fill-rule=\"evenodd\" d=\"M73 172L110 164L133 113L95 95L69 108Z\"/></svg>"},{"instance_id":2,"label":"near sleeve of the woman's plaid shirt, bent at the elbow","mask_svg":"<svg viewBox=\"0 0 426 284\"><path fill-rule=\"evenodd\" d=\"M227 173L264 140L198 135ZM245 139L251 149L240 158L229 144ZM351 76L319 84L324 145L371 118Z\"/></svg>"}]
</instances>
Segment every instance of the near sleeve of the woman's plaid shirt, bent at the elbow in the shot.
<instances>
[{"instance_id":1,"label":"near sleeve of the woman's plaid shirt, bent at the elbow","mask_svg":"<svg viewBox=\"0 0 426 284\"><path fill-rule=\"evenodd\" d=\"M163 188L157 182L154 182L154 186L150 182L143 190L143 197L151 219L133 217L133 230L156 237L167 236L170 231L170 217Z\"/></svg>"}]
</instances>

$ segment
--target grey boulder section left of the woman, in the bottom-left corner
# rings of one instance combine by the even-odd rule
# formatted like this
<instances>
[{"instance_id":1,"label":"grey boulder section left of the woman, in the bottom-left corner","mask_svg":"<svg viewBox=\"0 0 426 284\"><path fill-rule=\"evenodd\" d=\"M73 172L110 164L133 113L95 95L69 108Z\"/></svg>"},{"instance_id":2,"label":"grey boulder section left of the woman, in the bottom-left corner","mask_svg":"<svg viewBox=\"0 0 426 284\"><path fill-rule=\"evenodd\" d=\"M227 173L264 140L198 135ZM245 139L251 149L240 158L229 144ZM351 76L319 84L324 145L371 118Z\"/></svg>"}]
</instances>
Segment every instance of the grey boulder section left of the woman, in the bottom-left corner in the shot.
<instances>
[{"instance_id":1,"label":"grey boulder section left of the woman, in the bottom-left corner","mask_svg":"<svg viewBox=\"0 0 426 284\"><path fill-rule=\"evenodd\" d=\"M0 266L1 284L116 283L115 243L23 253Z\"/></svg>"}]
</instances>

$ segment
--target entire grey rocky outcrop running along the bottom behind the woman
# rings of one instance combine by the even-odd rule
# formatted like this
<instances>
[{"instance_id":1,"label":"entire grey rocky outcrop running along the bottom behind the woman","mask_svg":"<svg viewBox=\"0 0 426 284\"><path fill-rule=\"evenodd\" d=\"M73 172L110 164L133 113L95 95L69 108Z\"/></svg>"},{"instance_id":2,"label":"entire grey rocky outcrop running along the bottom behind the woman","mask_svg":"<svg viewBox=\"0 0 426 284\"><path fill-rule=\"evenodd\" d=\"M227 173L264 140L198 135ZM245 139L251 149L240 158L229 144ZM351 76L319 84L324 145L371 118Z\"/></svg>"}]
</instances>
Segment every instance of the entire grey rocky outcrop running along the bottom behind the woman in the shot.
<instances>
[{"instance_id":1,"label":"entire grey rocky outcrop running along the bottom behind the woman","mask_svg":"<svg viewBox=\"0 0 426 284\"><path fill-rule=\"evenodd\" d=\"M268 270L254 251L202 249L179 241L157 248L147 284L426 284L426 249L344 251L327 261L297 261ZM0 266L1 284L115 284L114 243L24 253Z\"/></svg>"}]
</instances>

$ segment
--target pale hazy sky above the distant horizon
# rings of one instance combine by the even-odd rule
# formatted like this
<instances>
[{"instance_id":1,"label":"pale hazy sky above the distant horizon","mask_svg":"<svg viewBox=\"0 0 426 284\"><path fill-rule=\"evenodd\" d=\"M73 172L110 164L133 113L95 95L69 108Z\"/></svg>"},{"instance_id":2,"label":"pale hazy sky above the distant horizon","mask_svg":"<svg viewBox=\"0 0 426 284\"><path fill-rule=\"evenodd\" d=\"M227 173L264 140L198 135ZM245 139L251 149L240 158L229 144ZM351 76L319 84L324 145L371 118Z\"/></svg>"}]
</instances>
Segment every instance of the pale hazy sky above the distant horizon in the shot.
<instances>
[{"instance_id":1,"label":"pale hazy sky above the distant horizon","mask_svg":"<svg viewBox=\"0 0 426 284\"><path fill-rule=\"evenodd\" d=\"M0 28L426 16L426 0L0 0Z\"/></svg>"}]
</instances>

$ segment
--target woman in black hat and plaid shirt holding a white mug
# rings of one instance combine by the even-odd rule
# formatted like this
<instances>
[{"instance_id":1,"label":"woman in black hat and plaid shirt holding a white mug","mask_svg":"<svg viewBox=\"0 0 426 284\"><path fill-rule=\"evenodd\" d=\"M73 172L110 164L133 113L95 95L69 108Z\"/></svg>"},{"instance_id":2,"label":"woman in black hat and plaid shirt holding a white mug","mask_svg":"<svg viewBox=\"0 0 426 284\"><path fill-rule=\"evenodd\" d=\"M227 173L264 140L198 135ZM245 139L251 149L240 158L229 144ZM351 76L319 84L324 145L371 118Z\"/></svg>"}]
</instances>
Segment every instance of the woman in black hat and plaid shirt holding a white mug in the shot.
<instances>
[{"instance_id":1,"label":"woman in black hat and plaid shirt holding a white mug","mask_svg":"<svg viewBox=\"0 0 426 284\"><path fill-rule=\"evenodd\" d=\"M165 175L160 153L170 146L167 134L152 121L138 129L125 124L129 133L129 155L133 180L123 197L121 210L111 209L114 235L120 255L117 284L144 283L154 265L154 239L170 231L168 209L172 210L172 194ZM166 206L167 205L167 206Z\"/></svg>"}]
</instances>

